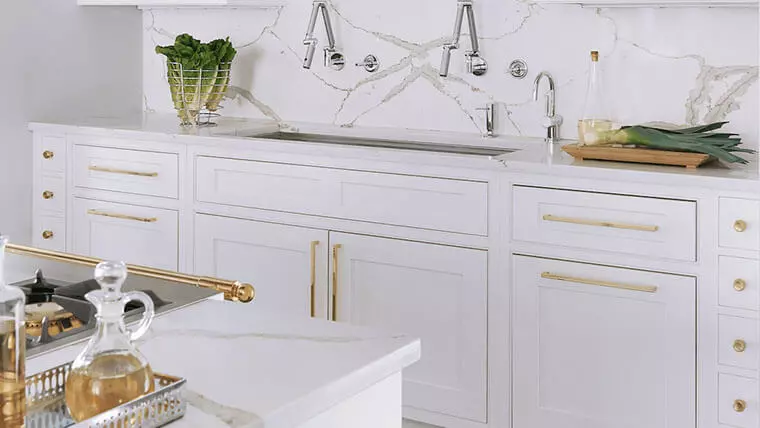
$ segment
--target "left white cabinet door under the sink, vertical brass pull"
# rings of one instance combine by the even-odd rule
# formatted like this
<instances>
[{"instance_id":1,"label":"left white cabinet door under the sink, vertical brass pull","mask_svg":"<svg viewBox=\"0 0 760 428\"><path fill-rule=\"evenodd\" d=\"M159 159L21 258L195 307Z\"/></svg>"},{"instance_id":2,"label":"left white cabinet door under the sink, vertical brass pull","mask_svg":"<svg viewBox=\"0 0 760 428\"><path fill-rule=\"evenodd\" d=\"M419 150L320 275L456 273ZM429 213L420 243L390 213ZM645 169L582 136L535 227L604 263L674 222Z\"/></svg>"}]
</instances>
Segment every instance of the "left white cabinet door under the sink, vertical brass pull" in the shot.
<instances>
[{"instance_id":1,"label":"left white cabinet door under the sink, vertical brass pull","mask_svg":"<svg viewBox=\"0 0 760 428\"><path fill-rule=\"evenodd\" d=\"M326 318L327 249L324 230L195 216L196 273L250 283L256 308Z\"/></svg>"}]
</instances>

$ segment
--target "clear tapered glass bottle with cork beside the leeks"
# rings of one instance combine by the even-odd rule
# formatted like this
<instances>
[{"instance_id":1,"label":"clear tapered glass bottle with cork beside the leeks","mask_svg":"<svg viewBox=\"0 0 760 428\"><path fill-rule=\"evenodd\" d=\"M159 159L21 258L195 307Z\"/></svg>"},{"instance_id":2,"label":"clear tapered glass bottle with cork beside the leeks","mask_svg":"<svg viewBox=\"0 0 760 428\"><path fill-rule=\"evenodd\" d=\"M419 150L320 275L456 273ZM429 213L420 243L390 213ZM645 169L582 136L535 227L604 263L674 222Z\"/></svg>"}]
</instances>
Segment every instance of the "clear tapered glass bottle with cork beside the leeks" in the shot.
<instances>
[{"instance_id":1,"label":"clear tapered glass bottle with cork beside the leeks","mask_svg":"<svg viewBox=\"0 0 760 428\"><path fill-rule=\"evenodd\" d=\"M599 51L591 51L586 101L583 104L583 115L578 121L578 141L581 145L601 144L611 134L609 131L616 127L604 97Z\"/></svg>"}]
</instances>

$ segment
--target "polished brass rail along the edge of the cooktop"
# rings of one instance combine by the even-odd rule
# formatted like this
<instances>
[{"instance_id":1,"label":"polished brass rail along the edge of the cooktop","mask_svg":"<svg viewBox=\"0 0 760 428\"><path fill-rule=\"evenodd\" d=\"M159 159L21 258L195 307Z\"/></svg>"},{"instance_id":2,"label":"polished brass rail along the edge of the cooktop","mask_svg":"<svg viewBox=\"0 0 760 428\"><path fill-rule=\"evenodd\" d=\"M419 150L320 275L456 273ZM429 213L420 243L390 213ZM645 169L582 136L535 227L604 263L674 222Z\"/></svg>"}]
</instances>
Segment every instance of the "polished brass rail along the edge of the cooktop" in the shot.
<instances>
[{"instance_id":1,"label":"polished brass rail along the edge of the cooktop","mask_svg":"<svg viewBox=\"0 0 760 428\"><path fill-rule=\"evenodd\" d=\"M6 250L13 254L23 256L41 257L64 263L74 263L83 266L95 267L102 260L94 257L80 256L76 254L61 253L58 251L43 250L41 248L25 247L23 245L7 244ZM164 281L179 282L200 288L208 288L224 293L224 298L233 302L248 303L256 296L256 290L250 284L239 281L210 278L206 276L188 275L140 265L127 265L129 273L155 278Z\"/></svg>"}]
</instances>

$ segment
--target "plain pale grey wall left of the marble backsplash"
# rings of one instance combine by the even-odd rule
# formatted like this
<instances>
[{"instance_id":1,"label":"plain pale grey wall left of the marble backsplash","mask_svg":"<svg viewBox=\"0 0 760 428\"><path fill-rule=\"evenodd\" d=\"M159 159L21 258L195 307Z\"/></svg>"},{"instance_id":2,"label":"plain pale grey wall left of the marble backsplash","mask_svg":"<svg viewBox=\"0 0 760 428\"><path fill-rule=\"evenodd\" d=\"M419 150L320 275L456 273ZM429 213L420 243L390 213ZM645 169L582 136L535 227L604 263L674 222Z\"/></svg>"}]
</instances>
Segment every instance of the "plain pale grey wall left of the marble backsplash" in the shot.
<instances>
[{"instance_id":1,"label":"plain pale grey wall left of the marble backsplash","mask_svg":"<svg viewBox=\"0 0 760 428\"><path fill-rule=\"evenodd\" d=\"M0 13L0 231L31 240L32 120L142 108L141 15L76 0L6 1Z\"/></svg>"}]
</instances>

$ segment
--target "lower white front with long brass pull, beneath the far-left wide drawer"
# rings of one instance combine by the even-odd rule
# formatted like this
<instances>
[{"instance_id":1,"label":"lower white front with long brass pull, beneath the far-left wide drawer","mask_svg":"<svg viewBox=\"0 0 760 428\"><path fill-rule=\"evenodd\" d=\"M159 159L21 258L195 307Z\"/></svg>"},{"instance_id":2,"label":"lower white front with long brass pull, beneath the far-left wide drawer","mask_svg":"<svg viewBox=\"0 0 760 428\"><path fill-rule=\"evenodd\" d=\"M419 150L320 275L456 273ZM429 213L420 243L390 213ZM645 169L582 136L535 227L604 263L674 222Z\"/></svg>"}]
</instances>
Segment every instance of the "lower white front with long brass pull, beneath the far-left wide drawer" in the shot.
<instances>
[{"instance_id":1,"label":"lower white front with long brass pull, beneath the far-left wide drawer","mask_svg":"<svg viewBox=\"0 0 760 428\"><path fill-rule=\"evenodd\" d=\"M74 198L74 254L177 270L177 212Z\"/></svg>"}]
</instances>

